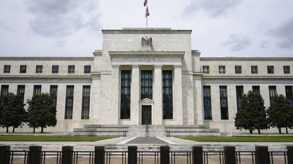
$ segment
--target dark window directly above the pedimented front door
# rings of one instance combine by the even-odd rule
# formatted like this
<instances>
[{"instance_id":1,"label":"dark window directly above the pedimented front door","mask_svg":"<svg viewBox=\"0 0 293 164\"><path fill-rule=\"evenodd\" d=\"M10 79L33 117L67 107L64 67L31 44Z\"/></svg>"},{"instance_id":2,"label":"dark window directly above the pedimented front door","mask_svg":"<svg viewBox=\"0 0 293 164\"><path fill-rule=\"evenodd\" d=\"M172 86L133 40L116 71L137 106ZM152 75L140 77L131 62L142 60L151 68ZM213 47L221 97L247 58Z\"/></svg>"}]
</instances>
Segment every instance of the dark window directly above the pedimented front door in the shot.
<instances>
[{"instance_id":1,"label":"dark window directly above the pedimented front door","mask_svg":"<svg viewBox=\"0 0 293 164\"><path fill-rule=\"evenodd\" d=\"M141 100L153 100L153 71L141 71Z\"/></svg>"}]
</instances>

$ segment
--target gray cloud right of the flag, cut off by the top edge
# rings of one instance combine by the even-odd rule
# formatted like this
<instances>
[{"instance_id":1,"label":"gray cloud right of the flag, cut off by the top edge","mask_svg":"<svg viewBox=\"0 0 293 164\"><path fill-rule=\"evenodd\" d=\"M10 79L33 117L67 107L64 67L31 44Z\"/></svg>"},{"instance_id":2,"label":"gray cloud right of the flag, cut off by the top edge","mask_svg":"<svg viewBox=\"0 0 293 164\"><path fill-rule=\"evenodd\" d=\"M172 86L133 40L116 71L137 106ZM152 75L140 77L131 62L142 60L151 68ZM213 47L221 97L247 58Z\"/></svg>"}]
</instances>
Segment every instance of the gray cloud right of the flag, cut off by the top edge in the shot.
<instances>
[{"instance_id":1,"label":"gray cloud right of the flag, cut off by the top edge","mask_svg":"<svg viewBox=\"0 0 293 164\"><path fill-rule=\"evenodd\" d=\"M227 13L227 11L243 0L192 0L183 11L183 15L191 15L196 11L203 10L210 17L215 18Z\"/></svg>"}]
</instances>

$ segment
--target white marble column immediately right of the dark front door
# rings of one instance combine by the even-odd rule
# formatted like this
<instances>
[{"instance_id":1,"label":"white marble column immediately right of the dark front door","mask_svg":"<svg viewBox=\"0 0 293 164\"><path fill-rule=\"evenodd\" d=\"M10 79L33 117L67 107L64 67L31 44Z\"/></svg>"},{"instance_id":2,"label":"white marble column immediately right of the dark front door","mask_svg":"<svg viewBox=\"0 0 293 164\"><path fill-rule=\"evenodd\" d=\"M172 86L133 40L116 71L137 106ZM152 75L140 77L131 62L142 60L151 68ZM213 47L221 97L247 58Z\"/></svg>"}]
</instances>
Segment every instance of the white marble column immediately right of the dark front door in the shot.
<instances>
[{"instance_id":1,"label":"white marble column immediately right of the dark front door","mask_svg":"<svg viewBox=\"0 0 293 164\"><path fill-rule=\"evenodd\" d=\"M154 125L162 125L163 119L163 105L162 105L162 65L154 65L154 86L153 86L153 100L154 100Z\"/></svg>"}]
</instances>

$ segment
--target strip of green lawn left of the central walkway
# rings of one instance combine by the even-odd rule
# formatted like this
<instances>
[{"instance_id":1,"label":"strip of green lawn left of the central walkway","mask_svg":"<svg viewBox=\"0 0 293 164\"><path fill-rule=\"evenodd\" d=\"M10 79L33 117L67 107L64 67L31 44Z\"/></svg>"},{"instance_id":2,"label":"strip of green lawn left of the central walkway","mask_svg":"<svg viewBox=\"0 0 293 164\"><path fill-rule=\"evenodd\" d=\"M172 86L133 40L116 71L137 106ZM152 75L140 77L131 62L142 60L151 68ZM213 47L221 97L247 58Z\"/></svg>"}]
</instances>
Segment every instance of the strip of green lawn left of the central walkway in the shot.
<instances>
[{"instance_id":1,"label":"strip of green lawn left of the central walkway","mask_svg":"<svg viewBox=\"0 0 293 164\"><path fill-rule=\"evenodd\" d=\"M100 141L117 137L0 135L0 141Z\"/></svg>"}]
</instances>

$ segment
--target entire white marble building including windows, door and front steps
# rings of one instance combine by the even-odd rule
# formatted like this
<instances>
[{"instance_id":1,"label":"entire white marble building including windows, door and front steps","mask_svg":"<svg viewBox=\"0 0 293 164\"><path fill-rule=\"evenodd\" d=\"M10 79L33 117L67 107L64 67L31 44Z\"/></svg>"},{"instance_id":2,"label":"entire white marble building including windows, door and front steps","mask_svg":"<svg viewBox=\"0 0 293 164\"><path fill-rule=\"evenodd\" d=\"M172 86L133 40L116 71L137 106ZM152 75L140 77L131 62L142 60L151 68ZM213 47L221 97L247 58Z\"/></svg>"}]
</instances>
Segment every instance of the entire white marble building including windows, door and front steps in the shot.
<instances>
[{"instance_id":1,"label":"entire white marble building including windows, door and front steps","mask_svg":"<svg viewBox=\"0 0 293 164\"><path fill-rule=\"evenodd\" d=\"M93 57L0 57L1 103L8 92L20 93L27 109L33 94L49 93L57 125L45 132L120 136L143 132L145 124L158 136L248 133L236 130L234 118L249 90L262 95L266 108L276 94L292 107L293 58L201 57L191 48L192 30L102 33L103 48Z\"/></svg>"}]
</instances>

